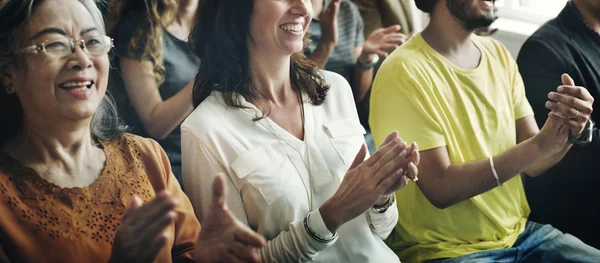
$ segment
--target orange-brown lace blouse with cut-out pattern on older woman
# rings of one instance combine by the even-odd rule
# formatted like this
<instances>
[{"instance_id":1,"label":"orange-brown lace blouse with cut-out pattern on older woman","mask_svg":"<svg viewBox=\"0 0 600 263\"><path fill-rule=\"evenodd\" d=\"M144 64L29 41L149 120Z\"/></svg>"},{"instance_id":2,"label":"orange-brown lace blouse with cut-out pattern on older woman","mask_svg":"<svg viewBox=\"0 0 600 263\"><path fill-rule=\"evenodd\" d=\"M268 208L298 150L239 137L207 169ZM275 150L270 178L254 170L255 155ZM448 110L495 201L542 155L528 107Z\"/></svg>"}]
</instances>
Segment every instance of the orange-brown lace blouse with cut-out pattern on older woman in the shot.
<instances>
[{"instance_id":1,"label":"orange-brown lace blouse with cut-out pattern on older woman","mask_svg":"<svg viewBox=\"0 0 600 263\"><path fill-rule=\"evenodd\" d=\"M0 152L0 262L108 262L131 198L168 190L178 202L156 262L191 262L200 223L153 140L125 134L103 141L106 166L84 188L60 188Z\"/></svg>"}]
</instances>

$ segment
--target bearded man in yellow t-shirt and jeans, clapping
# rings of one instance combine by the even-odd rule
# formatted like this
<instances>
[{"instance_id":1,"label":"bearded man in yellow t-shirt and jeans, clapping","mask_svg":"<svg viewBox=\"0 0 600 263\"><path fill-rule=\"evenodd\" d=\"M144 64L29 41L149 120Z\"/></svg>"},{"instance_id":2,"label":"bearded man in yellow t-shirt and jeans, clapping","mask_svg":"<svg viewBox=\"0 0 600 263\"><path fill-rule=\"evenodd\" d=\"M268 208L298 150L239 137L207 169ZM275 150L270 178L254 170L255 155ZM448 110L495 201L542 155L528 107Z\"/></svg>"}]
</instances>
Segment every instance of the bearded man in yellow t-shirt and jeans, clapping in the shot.
<instances>
[{"instance_id":1,"label":"bearded man in yellow t-shirt and jeans, clapping","mask_svg":"<svg viewBox=\"0 0 600 263\"><path fill-rule=\"evenodd\" d=\"M519 174L541 174L589 141L593 98L568 75L540 131L508 51L472 34L494 1L416 0L427 28L383 63L371 95L375 142L397 130L421 151L419 181L396 193L387 240L404 262L598 262L600 251L528 222Z\"/></svg>"}]
</instances>

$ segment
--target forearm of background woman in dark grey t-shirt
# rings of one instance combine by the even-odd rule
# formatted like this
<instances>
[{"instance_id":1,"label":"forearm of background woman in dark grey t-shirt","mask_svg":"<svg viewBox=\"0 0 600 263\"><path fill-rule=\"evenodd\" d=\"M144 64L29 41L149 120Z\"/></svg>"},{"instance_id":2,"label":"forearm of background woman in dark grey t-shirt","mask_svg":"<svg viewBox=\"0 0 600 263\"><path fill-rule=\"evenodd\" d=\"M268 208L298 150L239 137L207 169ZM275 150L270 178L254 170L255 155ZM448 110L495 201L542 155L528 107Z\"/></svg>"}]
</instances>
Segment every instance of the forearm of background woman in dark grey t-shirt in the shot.
<instances>
[{"instance_id":1,"label":"forearm of background woman in dark grey t-shirt","mask_svg":"<svg viewBox=\"0 0 600 263\"><path fill-rule=\"evenodd\" d=\"M149 118L144 122L144 128L152 138L164 139L194 110L193 85L194 81L192 80L175 96L153 108Z\"/></svg>"}]
</instances>

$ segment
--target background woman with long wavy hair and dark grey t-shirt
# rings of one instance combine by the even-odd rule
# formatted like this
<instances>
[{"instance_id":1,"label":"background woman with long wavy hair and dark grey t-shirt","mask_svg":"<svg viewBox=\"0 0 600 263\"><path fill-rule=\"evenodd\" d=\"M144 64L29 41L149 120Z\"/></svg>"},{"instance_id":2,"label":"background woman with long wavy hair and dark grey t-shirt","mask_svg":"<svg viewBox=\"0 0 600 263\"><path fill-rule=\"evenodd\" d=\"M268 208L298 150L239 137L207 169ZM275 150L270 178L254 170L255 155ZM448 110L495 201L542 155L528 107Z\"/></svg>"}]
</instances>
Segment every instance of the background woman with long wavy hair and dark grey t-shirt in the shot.
<instances>
[{"instance_id":1,"label":"background woman with long wavy hair and dark grey t-shirt","mask_svg":"<svg viewBox=\"0 0 600 263\"><path fill-rule=\"evenodd\" d=\"M181 183L179 125L192 112L200 61L187 43L198 0L123 0L111 5L115 38L110 90L135 134L165 149Z\"/></svg>"}]
</instances>

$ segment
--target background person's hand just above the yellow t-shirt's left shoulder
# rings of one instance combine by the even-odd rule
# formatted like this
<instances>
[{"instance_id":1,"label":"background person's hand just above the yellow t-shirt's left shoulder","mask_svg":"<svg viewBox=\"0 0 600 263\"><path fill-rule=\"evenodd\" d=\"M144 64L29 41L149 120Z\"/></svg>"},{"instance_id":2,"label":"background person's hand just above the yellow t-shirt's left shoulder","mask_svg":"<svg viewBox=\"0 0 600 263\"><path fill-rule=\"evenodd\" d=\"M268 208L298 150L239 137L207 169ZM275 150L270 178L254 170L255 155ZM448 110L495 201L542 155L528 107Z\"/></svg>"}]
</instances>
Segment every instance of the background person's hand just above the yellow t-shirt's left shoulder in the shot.
<instances>
[{"instance_id":1,"label":"background person's hand just above the yellow t-shirt's left shoulder","mask_svg":"<svg viewBox=\"0 0 600 263\"><path fill-rule=\"evenodd\" d=\"M382 58L387 57L390 52L406 42L406 36L398 33L400 28L399 25L393 25L373 31L363 45L362 55L369 57L377 54Z\"/></svg>"}]
</instances>

